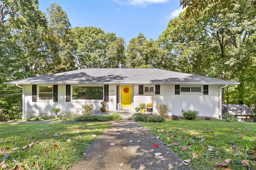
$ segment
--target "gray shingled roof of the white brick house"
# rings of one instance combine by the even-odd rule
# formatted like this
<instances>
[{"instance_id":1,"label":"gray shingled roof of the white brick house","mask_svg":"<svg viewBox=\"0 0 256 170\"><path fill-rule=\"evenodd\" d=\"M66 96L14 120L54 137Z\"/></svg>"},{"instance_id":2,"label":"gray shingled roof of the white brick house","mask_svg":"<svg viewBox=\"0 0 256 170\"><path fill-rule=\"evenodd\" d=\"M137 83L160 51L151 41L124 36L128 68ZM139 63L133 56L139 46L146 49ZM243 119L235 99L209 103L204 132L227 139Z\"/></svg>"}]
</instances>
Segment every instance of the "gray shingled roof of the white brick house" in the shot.
<instances>
[{"instance_id":1,"label":"gray shingled roof of the white brick house","mask_svg":"<svg viewBox=\"0 0 256 170\"><path fill-rule=\"evenodd\" d=\"M108 84L239 84L218 78L198 76L158 68L85 68L5 82L6 84L108 83Z\"/></svg>"}]
</instances>

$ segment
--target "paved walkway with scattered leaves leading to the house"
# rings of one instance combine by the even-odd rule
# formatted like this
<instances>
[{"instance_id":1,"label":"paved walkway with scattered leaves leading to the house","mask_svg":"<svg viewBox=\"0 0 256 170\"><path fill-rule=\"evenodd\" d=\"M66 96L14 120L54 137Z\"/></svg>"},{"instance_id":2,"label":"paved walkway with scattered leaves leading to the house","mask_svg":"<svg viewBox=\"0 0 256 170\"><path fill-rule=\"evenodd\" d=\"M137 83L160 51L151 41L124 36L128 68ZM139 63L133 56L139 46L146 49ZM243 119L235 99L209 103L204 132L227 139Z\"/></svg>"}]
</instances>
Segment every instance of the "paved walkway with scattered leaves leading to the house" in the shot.
<instances>
[{"instance_id":1,"label":"paved walkway with scattered leaves leading to the house","mask_svg":"<svg viewBox=\"0 0 256 170\"><path fill-rule=\"evenodd\" d=\"M85 159L70 170L191 170L164 143L152 137L138 122L116 121L86 150ZM154 148L154 144L159 147Z\"/></svg>"}]
</instances>

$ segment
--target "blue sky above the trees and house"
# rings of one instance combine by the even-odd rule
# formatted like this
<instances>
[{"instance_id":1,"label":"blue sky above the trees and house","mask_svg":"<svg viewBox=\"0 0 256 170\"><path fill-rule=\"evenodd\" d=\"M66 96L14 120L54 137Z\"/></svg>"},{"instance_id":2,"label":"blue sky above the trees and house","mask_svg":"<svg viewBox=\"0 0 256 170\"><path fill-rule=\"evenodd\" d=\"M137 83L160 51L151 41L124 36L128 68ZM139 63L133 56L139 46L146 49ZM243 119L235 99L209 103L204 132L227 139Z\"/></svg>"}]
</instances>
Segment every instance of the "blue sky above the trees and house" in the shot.
<instances>
[{"instance_id":1,"label":"blue sky above the trees and house","mask_svg":"<svg viewBox=\"0 0 256 170\"><path fill-rule=\"evenodd\" d=\"M67 13L72 27L100 27L105 33L129 41L143 33L157 40L170 19L181 12L180 0L39 0L39 9L56 3Z\"/></svg>"}]
</instances>

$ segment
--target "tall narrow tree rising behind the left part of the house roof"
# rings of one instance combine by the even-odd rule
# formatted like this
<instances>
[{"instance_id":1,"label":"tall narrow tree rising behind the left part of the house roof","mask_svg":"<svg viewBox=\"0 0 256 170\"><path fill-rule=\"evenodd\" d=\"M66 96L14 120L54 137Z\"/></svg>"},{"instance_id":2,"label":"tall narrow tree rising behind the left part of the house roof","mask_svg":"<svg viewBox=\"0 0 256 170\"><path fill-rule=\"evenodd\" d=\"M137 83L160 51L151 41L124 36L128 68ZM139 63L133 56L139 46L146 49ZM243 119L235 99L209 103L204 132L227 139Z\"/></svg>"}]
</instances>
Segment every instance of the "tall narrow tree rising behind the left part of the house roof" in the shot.
<instances>
[{"instance_id":1,"label":"tall narrow tree rising behind the left part of the house roof","mask_svg":"<svg viewBox=\"0 0 256 170\"><path fill-rule=\"evenodd\" d=\"M65 72L76 69L76 42L72 34L68 16L56 3L47 9L48 34L46 45L48 50L48 73Z\"/></svg>"}]
</instances>

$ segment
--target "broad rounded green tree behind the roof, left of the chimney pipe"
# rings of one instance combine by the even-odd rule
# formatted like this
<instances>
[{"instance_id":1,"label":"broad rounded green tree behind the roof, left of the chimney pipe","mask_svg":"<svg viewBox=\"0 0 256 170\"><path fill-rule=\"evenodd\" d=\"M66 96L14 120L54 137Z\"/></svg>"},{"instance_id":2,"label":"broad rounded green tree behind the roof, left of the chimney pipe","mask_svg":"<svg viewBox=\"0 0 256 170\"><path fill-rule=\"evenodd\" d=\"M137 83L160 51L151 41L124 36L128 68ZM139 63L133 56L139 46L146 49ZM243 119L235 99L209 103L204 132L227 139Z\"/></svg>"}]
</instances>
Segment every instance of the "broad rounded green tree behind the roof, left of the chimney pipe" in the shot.
<instances>
[{"instance_id":1,"label":"broad rounded green tree behind the roof, left of the chimney pipe","mask_svg":"<svg viewBox=\"0 0 256 170\"><path fill-rule=\"evenodd\" d=\"M73 33L76 38L76 43L78 44L76 61L79 68L106 68L114 64L114 61L111 59L111 57L117 57L114 55L121 55L118 59L123 57L124 49L122 46L124 44L122 43L124 43L124 41L122 39L116 40L118 37L116 37L115 33L105 33L102 29L92 26L75 27ZM116 43L117 46L118 44L121 46L114 47L113 43ZM121 51L116 51L116 54L110 57L110 53L108 53L107 56L109 48L116 48L115 50ZM112 49L111 53L114 53L113 50L114 49ZM108 61L108 59L110 59L110 61Z\"/></svg>"}]
</instances>

